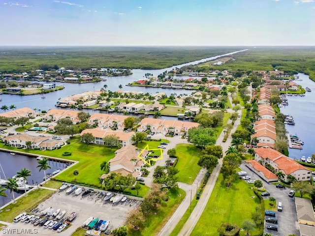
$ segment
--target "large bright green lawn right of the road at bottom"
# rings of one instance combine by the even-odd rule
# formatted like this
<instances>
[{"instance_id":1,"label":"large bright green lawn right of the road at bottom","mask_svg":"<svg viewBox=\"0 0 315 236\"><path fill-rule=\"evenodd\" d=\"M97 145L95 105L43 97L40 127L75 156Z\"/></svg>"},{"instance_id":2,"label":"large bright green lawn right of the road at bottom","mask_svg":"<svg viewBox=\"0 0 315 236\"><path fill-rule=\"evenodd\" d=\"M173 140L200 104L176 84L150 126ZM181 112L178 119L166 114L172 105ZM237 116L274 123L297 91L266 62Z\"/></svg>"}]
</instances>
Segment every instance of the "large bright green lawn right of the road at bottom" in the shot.
<instances>
[{"instance_id":1,"label":"large bright green lawn right of the road at bottom","mask_svg":"<svg viewBox=\"0 0 315 236\"><path fill-rule=\"evenodd\" d=\"M222 174L219 175L211 197L198 220L191 235L218 235L218 228L222 223L234 223L242 228L242 222L251 219L252 212L260 201L254 196L249 184L241 179L236 179L230 188L226 188ZM258 235L256 229L250 232ZM240 232L245 236L245 232Z\"/></svg>"}]
</instances>

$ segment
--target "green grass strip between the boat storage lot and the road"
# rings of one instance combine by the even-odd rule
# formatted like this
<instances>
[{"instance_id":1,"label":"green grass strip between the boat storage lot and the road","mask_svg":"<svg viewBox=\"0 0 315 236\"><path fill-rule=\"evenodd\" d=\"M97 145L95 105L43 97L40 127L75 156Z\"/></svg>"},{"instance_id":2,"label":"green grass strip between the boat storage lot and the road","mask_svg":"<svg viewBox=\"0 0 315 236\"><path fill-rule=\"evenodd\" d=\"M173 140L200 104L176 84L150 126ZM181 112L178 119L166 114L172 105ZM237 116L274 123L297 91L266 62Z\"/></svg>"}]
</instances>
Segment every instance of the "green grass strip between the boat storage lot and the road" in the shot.
<instances>
[{"instance_id":1,"label":"green grass strip between the boat storage lot and the road","mask_svg":"<svg viewBox=\"0 0 315 236\"><path fill-rule=\"evenodd\" d=\"M169 193L169 200L164 202L163 207L156 210L156 214L146 216L144 226L140 230L129 229L128 236L155 236L163 228L177 207L185 198L185 191L179 189L178 193Z\"/></svg>"}]
</instances>

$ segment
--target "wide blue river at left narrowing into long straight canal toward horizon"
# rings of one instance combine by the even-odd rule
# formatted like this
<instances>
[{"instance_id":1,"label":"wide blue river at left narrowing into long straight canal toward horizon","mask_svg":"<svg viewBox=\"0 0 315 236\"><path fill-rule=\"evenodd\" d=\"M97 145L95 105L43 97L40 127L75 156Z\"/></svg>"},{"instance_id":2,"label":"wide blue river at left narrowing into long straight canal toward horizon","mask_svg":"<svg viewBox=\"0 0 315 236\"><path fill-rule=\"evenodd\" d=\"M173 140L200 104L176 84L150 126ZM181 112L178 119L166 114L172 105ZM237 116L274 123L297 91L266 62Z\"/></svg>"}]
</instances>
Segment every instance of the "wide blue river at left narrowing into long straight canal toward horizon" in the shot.
<instances>
[{"instance_id":1,"label":"wide blue river at left narrowing into long straight canal toward horizon","mask_svg":"<svg viewBox=\"0 0 315 236\"><path fill-rule=\"evenodd\" d=\"M244 50L242 50L244 51ZM158 76L160 73L164 72L165 70L169 71L172 68L175 67L182 67L184 65L190 65L190 64L198 64L200 62L208 61L217 59L222 56L228 56L232 55L238 52L232 52L224 55L219 55L211 58L201 59L201 60L195 60L189 63L180 64L173 67L168 67L164 69L158 69L158 70L141 70L141 69L134 69L132 70L133 74L128 76L118 76L118 77L106 77L107 81L101 81L98 83L87 83L87 84L69 84L69 83L56 83L56 85L63 85L65 89L59 90L56 92L46 93L45 97L46 99L41 99L41 94L37 95L29 95L29 96L18 96L18 95L11 95L11 94L2 94L1 98L2 101L0 102L0 106L7 105L10 106L11 104L14 104L17 108L22 107L30 107L32 109L41 109L48 111L49 109L55 108L55 104L57 103L59 98L63 98L69 95L82 93L85 91L93 91L93 90L99 90L103 88L103 85L107 85L107 90L116 91L119 90L118 86L123 85L123 90L125 91L143 91L144 93L156 93L156 92L165 92L167 95L170 95L171 93L176 92L177 94L186 93L190 94L190 90L186 89L157 89L157 88L146 88L146 87L129 87L126 86L128 83L131 83L133 81L137 81L140 79L143 79L145 73L151 73L154 76ZM175 78L184 78L184 77L175 77ZM200 78L200 77L199 77Z\"/></svg>"}]
</instances>

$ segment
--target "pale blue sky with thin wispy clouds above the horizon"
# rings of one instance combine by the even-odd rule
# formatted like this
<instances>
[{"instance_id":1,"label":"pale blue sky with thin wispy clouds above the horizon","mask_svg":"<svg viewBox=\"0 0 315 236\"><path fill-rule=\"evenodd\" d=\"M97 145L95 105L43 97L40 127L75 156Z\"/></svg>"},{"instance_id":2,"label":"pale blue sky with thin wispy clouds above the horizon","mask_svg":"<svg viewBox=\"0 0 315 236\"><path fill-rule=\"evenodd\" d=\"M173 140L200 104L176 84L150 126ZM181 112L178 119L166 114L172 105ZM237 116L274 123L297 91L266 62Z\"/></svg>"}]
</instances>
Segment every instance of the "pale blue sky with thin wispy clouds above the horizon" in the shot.
<instances>
[{"instance_id":1,"label":"pale blue sky with thin wispy clouds above the horizon","mask_svg":"<svg viewBox=\"0 0 315 236\"><path fill-rule=\"evenodd\" d=\"M0 45L315 45L315 0L0 0Z\"/></svg>"}]
</instances>

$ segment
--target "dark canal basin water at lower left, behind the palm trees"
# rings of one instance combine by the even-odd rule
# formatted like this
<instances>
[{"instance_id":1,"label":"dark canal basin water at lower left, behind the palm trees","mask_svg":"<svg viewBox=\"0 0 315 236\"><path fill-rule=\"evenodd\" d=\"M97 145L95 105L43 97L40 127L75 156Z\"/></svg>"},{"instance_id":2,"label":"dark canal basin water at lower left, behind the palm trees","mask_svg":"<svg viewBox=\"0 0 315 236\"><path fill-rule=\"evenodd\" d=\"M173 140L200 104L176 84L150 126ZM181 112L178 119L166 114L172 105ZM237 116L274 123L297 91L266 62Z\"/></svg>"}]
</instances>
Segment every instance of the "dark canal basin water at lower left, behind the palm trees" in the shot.
<instances>
[{"instance_id":1,"label":"dark canal basin water at lower left, behind the palm trees","mask_svg":"<svg viewBox=\"0 0 315 236\"><path fill-rule=\"evenodd\" d=\"M19 172L22 168L26 168L31 171L32 176L28 177L28 183L30 185L36 184L36 182L41 183L44 177L44 171L39 172L39 169L36 168L37 159L35 157L25 156L25 155L11 155L8 152L0 152L0 164L2 166L3 172L0 168L0 176L1 178L13 177ZM63 169L64 163L49 161L49 165L51 169L46 171L47 173L52 173L56 169ZM4 187L4 186L2 186ZM6 190L5 193L8 195L5 197L0 197L0 206L8 203L12 199L12 193L9 190ZM14 192L14 196L20 196L23 193Z\"/></svg>"}]
</instances>

